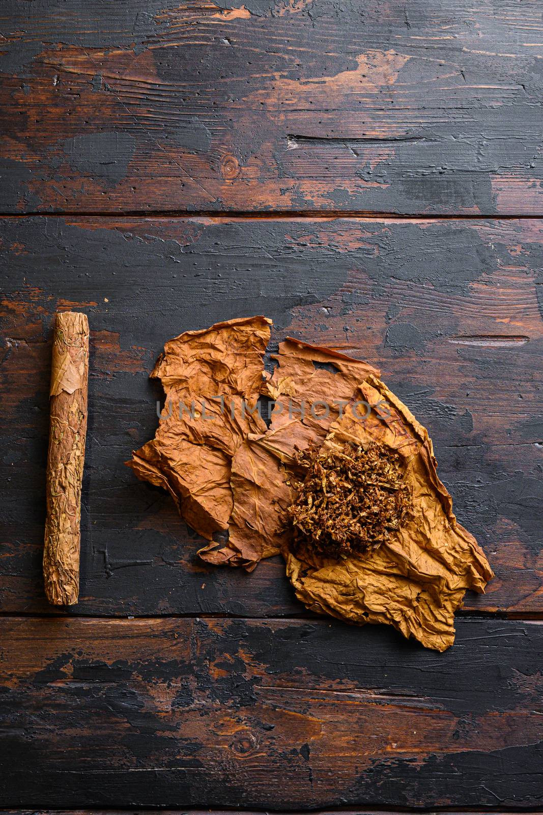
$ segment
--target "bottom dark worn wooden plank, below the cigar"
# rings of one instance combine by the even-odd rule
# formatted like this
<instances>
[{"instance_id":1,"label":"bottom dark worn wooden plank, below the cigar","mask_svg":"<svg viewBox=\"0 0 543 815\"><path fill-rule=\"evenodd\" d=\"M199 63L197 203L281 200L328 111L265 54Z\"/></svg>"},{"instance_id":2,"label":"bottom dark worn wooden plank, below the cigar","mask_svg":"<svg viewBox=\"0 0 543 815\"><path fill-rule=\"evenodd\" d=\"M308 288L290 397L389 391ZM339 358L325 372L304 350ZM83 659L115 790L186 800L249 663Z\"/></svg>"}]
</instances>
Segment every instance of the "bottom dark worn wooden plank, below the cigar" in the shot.
<instances>
[{"instance_id":1,"label":"bottom dark worn wooden plank, below the cigar","mask_svg":"<svg viewBox=\"0 0 543 815\"><path fill-rule=\"evenodd\" d=\"M543 804L543 627L3 619L4 806Z\"/></svg>"}]
</instances>

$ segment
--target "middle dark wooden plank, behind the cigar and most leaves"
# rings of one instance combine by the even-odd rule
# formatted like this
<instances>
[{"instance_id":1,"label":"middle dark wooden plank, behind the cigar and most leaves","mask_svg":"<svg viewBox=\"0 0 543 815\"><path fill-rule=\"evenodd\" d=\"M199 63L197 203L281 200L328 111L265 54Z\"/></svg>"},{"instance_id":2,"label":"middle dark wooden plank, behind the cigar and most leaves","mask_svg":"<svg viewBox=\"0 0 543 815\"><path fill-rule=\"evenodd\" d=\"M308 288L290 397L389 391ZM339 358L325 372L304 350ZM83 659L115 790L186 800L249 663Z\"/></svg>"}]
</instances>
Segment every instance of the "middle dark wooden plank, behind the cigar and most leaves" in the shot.
<instances>
[{"instance_id":1,"label":"middle dark wooden plank, behind the cigar and most leaves","mask_svg":"<svg viewBox=\"0 0 543 815\"><path fill-rule=\"evenodd\" d=\"M204 566L201 541L123 462L151 438L164 341L234 316L381 368L427 425L454 507L497 579L470 610L539 614L543 499L543 222L11 218L3 316L0 609L50 613L42 591L50 326L92 328L75 614L299 615L279 558Z\"/></svg>"}]
</instances>

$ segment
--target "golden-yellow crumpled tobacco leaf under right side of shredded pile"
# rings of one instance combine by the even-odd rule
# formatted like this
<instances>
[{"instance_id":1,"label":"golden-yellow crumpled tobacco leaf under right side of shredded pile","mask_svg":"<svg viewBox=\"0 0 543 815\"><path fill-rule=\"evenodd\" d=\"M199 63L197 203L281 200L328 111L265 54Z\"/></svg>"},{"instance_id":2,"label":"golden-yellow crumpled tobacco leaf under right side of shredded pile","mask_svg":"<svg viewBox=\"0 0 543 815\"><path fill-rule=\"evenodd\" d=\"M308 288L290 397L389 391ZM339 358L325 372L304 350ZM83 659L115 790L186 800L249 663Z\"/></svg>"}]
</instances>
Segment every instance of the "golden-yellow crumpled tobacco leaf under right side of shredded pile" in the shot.
<instances>
[{"instance_id":1,"label":"golden-yellow crumpled tobacco leaf under right side of shredded pile","mask_svg":"<svg viewBox=\"0 0 543 815\"><path fill-rule=\"evenodd\" d=\"M389 623L427 648L445 650L453 644L454 611L466 589L483 592L493 571L454 517L427 430L376 377L368 377L355 397L375 407L363 422L345 412L323 448L377 440L401 455L412 517L378 549L344 561L309 547L283 550L287 575L311 610L353 623Z\"/></svg>"}]
</instances>

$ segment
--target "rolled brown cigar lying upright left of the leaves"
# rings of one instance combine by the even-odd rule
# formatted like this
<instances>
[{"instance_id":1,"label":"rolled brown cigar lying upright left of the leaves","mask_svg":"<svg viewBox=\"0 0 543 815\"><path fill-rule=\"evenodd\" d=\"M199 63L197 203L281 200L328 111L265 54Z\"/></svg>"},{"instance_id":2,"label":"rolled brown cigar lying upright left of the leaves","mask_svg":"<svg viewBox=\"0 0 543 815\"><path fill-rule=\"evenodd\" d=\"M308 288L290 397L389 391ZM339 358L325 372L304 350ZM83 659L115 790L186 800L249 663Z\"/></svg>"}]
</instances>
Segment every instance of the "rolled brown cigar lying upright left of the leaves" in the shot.
<instances>
[{"instance_id":1,"label":"rolled brown cigar lying upright left of the leaves","mask_svg":"<svg viewBox=\"0 0 543 815\"><path fill-rule=\"evenodd\" d=\"M72 606L79 595L81 479L85 462L89 321L78 311L56 315L51 361L47 518L43 581L47 600Z\"/></svg>"}]
</instances>

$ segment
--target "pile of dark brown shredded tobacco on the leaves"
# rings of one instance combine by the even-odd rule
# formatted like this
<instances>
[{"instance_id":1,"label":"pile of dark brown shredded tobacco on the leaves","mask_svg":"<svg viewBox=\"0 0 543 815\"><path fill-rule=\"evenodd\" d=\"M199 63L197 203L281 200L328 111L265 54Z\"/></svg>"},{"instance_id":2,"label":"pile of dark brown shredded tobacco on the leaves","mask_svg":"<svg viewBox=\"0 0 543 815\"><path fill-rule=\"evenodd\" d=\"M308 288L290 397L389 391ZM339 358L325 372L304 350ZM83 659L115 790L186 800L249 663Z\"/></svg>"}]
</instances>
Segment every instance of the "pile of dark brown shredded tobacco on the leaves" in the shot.
<instances>
[{"instance_id":1,"label":"pile of dark brown shredded tobacco on the leaves","mask_svg":"<svg viewBox=\"0 0 543 815\"><path fill-rule=\"evenodd\" d=\"M345 443L325 452L298 452L307 470L294 504L286 510L294 545L331 557L379 548L413 510L401 456L384 444Z\"/></svg>"}]
</instances>

